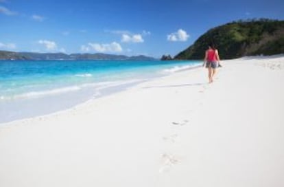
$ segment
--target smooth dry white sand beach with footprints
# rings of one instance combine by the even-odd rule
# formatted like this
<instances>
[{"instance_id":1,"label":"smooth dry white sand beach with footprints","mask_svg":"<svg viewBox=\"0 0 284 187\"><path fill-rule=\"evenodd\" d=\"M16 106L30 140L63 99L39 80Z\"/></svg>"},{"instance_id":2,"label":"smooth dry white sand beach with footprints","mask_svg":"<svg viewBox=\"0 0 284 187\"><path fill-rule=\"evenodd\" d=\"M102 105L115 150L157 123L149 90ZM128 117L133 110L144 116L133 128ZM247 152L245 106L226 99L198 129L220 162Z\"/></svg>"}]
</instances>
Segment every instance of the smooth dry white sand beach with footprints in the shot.
<instances>
[{"instance_id":1,"label":"smooth dry white sand beach with footprints","mask_svg":"<svg viewBox=\"0 0 284 187\"><path fill-rule=\"evenodd\" d=\"M284 186L284 56L0 124L0 186Z\"/></svg>"}]
</instances>

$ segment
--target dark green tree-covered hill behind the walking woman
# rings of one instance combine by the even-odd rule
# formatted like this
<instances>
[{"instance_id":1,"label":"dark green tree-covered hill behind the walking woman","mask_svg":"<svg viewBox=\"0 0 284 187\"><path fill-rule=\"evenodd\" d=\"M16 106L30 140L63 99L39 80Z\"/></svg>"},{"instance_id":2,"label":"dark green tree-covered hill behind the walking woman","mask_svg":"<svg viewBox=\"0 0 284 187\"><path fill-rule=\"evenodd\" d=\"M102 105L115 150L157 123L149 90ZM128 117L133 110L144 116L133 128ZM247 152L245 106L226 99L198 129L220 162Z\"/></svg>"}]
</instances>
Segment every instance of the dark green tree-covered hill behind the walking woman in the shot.
<instances>
[{"instance_id":1,"label":"dark green tree-covered hill behind the walking woman","mask_svg":"<svg viewBox=\"0 0 284 187\"><path fill-rule=\"evenodd\" d=\"M202 59L211 41L215 43L222 59L283 54L284 21L259 19L218 26L200 36L174 59Z\"/></svg>"}]
</instances>

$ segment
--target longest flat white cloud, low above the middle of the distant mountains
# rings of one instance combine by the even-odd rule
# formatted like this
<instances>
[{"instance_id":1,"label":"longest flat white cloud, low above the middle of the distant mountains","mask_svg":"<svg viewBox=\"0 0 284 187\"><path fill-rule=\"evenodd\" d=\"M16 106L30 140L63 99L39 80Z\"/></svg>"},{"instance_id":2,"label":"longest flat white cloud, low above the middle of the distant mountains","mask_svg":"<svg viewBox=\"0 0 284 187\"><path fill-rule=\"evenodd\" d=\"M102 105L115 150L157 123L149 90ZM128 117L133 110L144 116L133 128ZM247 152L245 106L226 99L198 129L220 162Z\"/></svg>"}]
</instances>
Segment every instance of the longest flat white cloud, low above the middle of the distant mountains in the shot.
<instances>
[{"instance_id":1,"label":"longest flat white cloud, low above the middle of the distant mountains","mask_svg":"<svg viewBox=\"0 0 284 187\"><path fill-rule=\"evenodd\" d=\"M81 51L82 52L89 52L94 50L96 52L122 52L122 47L119 43L107 43L107 44L100 44L100 43L88 43L88 45L82 45Z\"/></svg>"}]
</instances>

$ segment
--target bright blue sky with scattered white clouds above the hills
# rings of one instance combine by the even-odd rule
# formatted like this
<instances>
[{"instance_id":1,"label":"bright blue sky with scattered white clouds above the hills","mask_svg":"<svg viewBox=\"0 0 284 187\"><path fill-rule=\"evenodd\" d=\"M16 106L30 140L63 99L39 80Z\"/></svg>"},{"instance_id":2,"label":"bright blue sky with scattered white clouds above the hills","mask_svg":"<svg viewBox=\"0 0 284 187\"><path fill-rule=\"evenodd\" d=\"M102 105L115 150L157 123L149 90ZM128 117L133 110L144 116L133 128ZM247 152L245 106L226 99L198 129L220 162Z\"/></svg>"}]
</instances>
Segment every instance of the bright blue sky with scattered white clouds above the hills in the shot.
<instances>
[{"instance_id":1,"label":"bright blue sky with scattered white clouds above the hills","mask_svg":"<svg viewBox=\"0 0 284 187\"><path fill-rule=\"evenodd\" d=\"M283 0L0 0L0 50L174 56L210 28L284 20Z\"/></svg>"}]
</instances>

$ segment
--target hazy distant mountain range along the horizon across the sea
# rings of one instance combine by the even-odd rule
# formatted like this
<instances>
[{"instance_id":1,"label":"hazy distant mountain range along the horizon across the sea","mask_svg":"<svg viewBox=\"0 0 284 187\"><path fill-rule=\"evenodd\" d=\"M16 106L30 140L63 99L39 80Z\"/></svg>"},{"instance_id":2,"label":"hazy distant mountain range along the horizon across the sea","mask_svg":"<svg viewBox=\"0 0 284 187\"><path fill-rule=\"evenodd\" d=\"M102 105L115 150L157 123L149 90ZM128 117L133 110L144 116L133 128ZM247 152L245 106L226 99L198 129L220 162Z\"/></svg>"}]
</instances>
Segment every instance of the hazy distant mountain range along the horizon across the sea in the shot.
<instances>
[{"instance_id":1,"label":"hazy distant mountain range along the horizon across the sea","mask_svg":"<svg viewBox=\"0 0 284 187\"><path fill-rule=\"evenodd\" d=\"M121 61L154 61L150 56L125 56L115 54L64 54L64 53L36 53L36 52L8 52L0 51L0 60L121 60Z\"/></svg>"}]
</instances>

